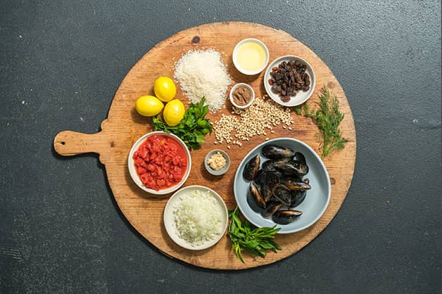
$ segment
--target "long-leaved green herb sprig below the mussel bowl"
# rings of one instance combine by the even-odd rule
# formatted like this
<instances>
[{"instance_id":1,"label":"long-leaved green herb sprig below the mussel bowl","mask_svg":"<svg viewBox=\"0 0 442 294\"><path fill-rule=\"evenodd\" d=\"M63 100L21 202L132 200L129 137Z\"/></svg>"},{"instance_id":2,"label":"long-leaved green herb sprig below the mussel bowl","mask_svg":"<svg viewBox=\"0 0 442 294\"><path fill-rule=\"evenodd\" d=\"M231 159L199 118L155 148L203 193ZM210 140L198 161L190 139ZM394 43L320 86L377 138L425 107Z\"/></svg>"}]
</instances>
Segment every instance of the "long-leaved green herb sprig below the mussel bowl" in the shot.
<instances>
[{"instance_id":1,"label":"long-leaved green herb sprig below the mussel bowl","mask_svg":"<svg viewBox=\"0 0 442 294\"><path fill-rule=\"evenodd\" d=\"M244 263L243 257L241 255L242 250L246 250L247 253L265 257L267 253L265 250L281 250L281 246L272 241L274 235L277 234L280 228L251 228L251 224L247 221L241 222L239 218L238 207L234 210L229 210L229 232L228 236L232 241L232 248L236 253L236 257Z\"/></svg>"}]
</instances>

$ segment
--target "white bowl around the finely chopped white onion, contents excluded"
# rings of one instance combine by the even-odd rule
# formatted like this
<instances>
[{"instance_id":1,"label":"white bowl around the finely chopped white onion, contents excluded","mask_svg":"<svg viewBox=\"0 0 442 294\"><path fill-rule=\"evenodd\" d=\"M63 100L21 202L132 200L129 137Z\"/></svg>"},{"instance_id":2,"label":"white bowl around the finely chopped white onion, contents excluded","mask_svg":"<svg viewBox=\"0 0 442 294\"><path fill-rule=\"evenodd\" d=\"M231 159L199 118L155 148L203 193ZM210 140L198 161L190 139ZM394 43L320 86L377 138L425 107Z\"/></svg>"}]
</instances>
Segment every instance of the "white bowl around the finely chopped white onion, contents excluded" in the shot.
<instances>
[{"instance_id":1,"label":"white bowl around the finely chopped white onion, contents excluded","mask_svg":"<svg viewBox=\"0 0 442 294\"><path fill-rule=\"evenodd\" d=\"M192 246L189 242L185 241L179 235L177 234L177 229L175 226L175 217L173 214L173 211L175 210L175 205L177 205L181 201L181 196L187 193L191 193L194 190L201 190L201 191L208 191L213 198L217 201L217 203L220 205L220 210L222 214L222 230L220 234L213 239L212 241L208 241L207 243L203 243L198 246ZM177 243L177 245L181 246L182 248L186 248L189 250L203 250L206 248L209 248L213 245L215 245L222 236L224 236L225 231L227 229L227 224L229 221L229 212L227 211L227 206L224 203L224 200L222 200L221 196L213 191L211 188L208 188L206 186L187 186L182 189L179 189L179 191L175 192L172 197L168 200L168 203L166 204L164 208L164 215L163 215L163 222L165 226L165 230L168 232L168 235L174 241Z\"/></svg>"}]
</instances>

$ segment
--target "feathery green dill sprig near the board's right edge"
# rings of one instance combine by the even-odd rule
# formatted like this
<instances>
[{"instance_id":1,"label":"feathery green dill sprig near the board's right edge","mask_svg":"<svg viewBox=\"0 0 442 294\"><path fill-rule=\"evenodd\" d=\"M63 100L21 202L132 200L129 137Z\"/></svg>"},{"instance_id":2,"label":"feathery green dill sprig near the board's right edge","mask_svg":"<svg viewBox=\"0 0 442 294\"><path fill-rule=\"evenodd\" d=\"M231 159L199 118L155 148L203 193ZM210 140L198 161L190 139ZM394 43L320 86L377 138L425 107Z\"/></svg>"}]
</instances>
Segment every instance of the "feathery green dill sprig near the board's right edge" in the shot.
<instances>
[{"instance_id":1,"label":"feathery green dill sprig near the board's right edge","mask_svg":"<svg viewBox=\"0 0 442 294\"><path fill-rule=\"evenodd\" d=\"M333 151L343 149L348 140L343 139L339 129L339 124L343 120L343 114L339 112L338 99L336 96L331 97L330 91L325 86L322 87L321 92L322 94L318 95L320 102L318 103L319 108L317 110L311 109L307 103L304 103L303 106L295 106L293 109L298 115L311 117L320 129L320 136L322 138L320 146L322 151L321 158L324 158Z\"/></svg>"}]
</instances>

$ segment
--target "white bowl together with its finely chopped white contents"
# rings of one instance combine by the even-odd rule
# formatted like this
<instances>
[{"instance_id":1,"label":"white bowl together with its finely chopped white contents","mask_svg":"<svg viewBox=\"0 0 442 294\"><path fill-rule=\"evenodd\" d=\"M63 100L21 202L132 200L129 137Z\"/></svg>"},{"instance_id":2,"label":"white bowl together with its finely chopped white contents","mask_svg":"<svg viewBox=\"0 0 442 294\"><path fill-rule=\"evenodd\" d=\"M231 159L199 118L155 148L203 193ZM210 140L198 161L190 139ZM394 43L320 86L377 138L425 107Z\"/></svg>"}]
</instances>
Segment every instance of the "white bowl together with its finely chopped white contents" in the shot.
<instances>
[{"instance_id":1,"label":"white bowl together with its finely chopped white contents","mask_svg":"<svg viewBox=\"0 0 442 294\"><path fill-rule=\"evenodd\" d=\"M211 188L187 186L169 199L164 209L168 235L182 248L203 250L215 245L227 229L228 211L224 200Z\"/></svg>"}]
</instances>

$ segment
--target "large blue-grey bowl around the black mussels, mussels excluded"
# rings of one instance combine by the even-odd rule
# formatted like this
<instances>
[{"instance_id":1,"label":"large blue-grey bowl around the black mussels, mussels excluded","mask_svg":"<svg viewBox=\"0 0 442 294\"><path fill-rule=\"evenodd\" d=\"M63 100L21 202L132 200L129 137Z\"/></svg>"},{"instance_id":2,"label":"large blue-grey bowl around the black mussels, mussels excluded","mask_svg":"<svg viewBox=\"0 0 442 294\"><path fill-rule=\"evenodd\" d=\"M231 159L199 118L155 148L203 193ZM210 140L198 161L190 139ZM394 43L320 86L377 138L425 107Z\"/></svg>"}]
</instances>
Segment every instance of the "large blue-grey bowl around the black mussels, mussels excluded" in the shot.
<instances>
[{"instance_id":1,"label":"large blue-grey bowl around the black mussels, mussels excluded","mask_svg":"<svg viewBox=\"0 0 442 294\"><path fill-rule=\"evenodd\" d=\"M295 219L291 224L276 224L278 228L281 228L278 234L290 234L307 229L320 219L327 205L329 205L331 186L329 174L321 158L310 146L296 139L278 138L266 141L253 148L241 161L234 179L234 195L239 210L241 210L244 217L255 226L264 227L275 225L271 217L262 217L248 205L247 193L250 181L246 181L243 178L244 165L246 165L248 160L253 158L253 156L260 154L263 146L270 143L289 147L292 148L293 151L303 153L309 167L309 172L304 178L310 179L310 186L312 186L312 188L307 191L307 196L305 196L303 203L296 207L296 210L301 210L303 215ZM267 158L260 155L260 163L262 164L265 160L267 160Z\"/></svg>"}]
</instances>

